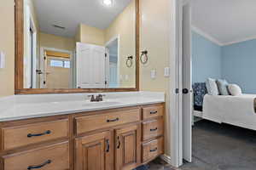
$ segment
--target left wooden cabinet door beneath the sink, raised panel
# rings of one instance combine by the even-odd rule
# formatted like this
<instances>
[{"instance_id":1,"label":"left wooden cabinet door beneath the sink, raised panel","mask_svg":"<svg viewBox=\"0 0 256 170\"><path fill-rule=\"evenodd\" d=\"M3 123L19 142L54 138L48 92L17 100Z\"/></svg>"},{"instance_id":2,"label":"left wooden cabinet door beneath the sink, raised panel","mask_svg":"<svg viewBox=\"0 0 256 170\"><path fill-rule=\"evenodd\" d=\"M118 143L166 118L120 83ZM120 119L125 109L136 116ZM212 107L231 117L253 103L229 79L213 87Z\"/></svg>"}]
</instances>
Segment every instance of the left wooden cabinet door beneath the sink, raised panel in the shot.
<instances>
[{"instance_id":1,"label":"left wooden cabinet door beneath the sink, raised panel","mask_svg":"<svg viewBox=\"0 0 256 170\"><path fill-rule=\"evenodd\" d=\"M75 139L76 170L113 170L111 133L103 132Z\"/></svg>"}]
</instances>

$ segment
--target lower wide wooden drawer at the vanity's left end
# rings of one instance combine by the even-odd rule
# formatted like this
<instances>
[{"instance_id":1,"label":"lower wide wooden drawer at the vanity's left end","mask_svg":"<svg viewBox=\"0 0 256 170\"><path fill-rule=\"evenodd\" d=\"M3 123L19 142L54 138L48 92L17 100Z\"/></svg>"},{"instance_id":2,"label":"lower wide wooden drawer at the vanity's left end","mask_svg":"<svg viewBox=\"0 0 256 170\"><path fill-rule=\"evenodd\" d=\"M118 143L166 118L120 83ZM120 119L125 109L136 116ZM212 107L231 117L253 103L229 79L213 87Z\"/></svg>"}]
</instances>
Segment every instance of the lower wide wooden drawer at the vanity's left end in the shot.
<instances>
[{"instance_id":1,"label":"lower wide wooden drawer at the vanity's left end","mask_svg":"<svg viewBox=\"0 0 256 170\"><path fill-rule=\"evenodd\" d=\"M68 142L52 144L3 156L3 170L67 170L69 169Z\"/></svg>"}]
</instances>

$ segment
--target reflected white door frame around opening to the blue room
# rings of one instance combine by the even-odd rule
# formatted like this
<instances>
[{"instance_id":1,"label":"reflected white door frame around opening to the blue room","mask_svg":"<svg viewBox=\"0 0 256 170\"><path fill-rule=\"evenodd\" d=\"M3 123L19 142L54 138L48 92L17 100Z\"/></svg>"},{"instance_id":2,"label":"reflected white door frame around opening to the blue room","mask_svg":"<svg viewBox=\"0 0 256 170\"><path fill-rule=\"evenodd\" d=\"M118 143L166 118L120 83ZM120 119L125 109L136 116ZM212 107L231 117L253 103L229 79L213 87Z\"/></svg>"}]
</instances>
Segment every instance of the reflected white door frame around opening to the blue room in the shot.
<instances>
[{"instance_id":1,"label":"reflected white door frame around opening to the blue room","mask_svg":"<svg viewBox=\"0 0 256 170\"><path fill-rule=\"evenodd\" d=\"M119 77L119 66L120 66L120 35L118 34L118 35L116 35L116 36L113 36L112 38L110 38L110 40L108 41L108 42L106 42L105 43L105 48L107 49L107 46L111 43L111 42L113 42L113 41L115 41L115 40L118 40L118 56L117 56L117 58L118 58L118 60L117 60L117 82L118 82L118 84L120 85L120 77ZM108 74L107 76L106 76L106 78L107 78L107 86L109 85L108 84L108 82L109 82L109 65L108 65L108 63L107 63L107 61L109 62L109 50L106 50L106 52L107 52L107 56L108 56L108 59L106 59L106 73Z\"/></svg>"}]
</instances>

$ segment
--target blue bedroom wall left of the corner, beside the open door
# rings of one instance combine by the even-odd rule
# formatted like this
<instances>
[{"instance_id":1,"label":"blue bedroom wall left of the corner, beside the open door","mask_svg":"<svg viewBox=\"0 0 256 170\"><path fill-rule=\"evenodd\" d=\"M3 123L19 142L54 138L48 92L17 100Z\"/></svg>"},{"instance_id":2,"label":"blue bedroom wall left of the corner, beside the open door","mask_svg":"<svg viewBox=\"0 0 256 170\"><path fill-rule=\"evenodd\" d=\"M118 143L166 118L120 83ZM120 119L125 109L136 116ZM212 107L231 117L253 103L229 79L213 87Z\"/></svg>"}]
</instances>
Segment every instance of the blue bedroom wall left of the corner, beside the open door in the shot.
<instances>
[{"instance_id":1,"label":"blue bedroom wall left of the corner, beside the open door","mask_svg":"<svg viewBox=\"0 0 256 170\"><path fill-rule=\"evenodd\" d=\"M221 47L192 31L192 82L221 78Z\"/></svg>"}]
</instances>

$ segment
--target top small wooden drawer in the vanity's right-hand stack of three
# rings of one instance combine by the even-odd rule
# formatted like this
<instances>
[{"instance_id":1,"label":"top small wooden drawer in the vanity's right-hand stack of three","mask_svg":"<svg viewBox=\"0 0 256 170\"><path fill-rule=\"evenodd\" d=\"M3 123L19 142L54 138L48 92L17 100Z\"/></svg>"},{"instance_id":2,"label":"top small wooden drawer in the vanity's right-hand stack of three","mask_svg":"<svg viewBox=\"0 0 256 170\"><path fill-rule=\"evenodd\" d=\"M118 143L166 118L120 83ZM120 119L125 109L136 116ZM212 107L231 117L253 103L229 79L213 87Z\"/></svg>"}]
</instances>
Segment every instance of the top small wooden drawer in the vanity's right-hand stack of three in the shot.
<instances>
[{"instance_id":1,"label":"top small wooden drawer in the vanity's right-hand stack of three","mask_svg":"<svg viewBox=\"0 0 256 170\"><path fill-rule=\"evenodd\" d=\"M164 106L163 105L152 105L143 108L143 120L163 116Z\"/></svg>"}]
</instances>

